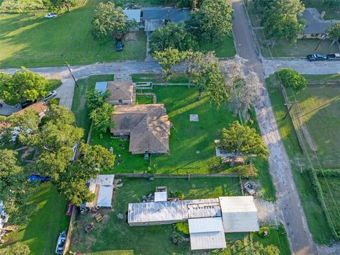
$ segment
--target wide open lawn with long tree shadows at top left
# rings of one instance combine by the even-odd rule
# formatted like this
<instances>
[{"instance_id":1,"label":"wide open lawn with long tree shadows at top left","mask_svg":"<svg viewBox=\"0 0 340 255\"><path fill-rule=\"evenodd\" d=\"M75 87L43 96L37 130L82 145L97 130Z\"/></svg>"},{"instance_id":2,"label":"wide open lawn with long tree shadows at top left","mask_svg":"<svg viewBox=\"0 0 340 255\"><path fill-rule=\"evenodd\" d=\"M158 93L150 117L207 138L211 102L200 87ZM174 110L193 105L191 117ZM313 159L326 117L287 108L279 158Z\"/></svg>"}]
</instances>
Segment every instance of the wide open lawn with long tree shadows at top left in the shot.
<instances>
[{"instance_id":1,"label":"wide open lawn with long tree shadows at top left","mask_svg":"<svg viewBox=\"0 0 340 255\"><path fill-rule=\"evenodd\" d=\"M81 0L71 12L44 18L46 12L0 14L0 68L60 66L119 60L143 60L146 35L137 31L115 51L115 39L95 41L91 19L100 0Z\"/></svg>"}]
</instances>

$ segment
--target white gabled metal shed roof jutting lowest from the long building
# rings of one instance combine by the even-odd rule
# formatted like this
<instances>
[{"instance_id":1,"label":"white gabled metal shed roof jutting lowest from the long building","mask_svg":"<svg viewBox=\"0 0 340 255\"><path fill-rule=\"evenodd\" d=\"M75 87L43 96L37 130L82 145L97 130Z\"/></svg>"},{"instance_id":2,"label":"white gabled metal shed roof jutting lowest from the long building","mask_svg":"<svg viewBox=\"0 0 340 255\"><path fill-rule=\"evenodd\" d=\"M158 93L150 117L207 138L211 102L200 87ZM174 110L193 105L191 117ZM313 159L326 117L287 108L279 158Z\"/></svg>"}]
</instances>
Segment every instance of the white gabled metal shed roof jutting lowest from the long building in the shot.
<instances>
[{"instance_id":1,"label":"white gabled metal shed roof jutting lowest from the long building","mask_svg":"<svg viewBox=\"0 0 340 255\"><path fill-rule=\"evenodd\" d=\"M191 249L226 248L221 217L189 219Z\"/></svg>"}]
</instances>

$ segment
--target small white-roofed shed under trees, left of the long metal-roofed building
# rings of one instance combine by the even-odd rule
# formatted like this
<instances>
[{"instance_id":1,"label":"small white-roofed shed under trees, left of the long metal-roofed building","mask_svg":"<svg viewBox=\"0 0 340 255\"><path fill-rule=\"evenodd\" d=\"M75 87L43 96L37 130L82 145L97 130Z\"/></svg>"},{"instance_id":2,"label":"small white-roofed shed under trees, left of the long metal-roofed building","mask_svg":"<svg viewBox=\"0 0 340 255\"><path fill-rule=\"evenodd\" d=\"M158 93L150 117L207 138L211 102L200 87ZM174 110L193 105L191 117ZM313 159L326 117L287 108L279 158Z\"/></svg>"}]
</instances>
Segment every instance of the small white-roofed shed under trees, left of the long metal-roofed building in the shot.
<instances>
[{"instance_id":1,"label":"small white-roofed shed under trees, left of the long metal-roofed building","mask_svg":"<svg viewBox=\"0 0 340 255\"><path fill-rule=\"evenodd\" d=\"M86 203L86 207L111 208L113 196L114 174L99 174L96 179L88 182L89 190L96 195L93 201Z\"/></svg>"}]
</instances>

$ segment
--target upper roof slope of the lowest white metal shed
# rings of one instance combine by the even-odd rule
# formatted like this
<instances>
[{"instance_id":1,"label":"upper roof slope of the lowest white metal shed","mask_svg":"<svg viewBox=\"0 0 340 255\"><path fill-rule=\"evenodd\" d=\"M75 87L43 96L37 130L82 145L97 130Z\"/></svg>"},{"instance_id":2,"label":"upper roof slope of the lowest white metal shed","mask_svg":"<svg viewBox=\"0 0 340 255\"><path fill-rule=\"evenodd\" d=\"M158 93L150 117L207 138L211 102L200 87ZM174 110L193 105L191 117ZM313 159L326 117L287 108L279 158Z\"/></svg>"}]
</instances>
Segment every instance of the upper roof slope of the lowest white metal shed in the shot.
<instances>
[{"instance_id":1,"label":"upper roof slope of the lowest white metal shed","mask_svg":"<svg viewBox=\"0 0 340 255\"><path fill-rule=\"evenodd\" d=\"M224 232L222 217L189 219L188 222L190 234L202 232Z\"/></svg>"}]
</instances>

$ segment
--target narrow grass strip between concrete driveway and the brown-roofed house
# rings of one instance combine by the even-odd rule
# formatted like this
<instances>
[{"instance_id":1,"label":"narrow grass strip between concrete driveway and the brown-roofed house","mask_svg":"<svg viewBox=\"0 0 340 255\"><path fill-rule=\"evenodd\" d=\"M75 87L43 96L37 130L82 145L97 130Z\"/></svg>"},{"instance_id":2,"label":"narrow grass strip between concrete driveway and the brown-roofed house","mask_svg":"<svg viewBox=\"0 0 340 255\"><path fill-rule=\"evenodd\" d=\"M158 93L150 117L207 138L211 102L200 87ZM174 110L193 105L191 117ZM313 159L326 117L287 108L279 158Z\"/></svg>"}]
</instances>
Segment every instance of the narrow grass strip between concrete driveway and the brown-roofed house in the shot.
<instances>
[{"instance_id":1,"label":"narrow grass strip between concrete driveway and the brown-roofed house","mask_svg":"<svg viewBox=\"0 0 340 255\"><path fill-rule=\"evenodd\" d=\"M91 119L89 118L90 111L85 105L85 96L87 91L94 89L97 81L113 81L113 75L93 75L85 79L79 79L79 88L74 86L72 112L76 116L77 126L84 128L84 140L87 139L91 126Z\"/></svg>"}]
</instances>

